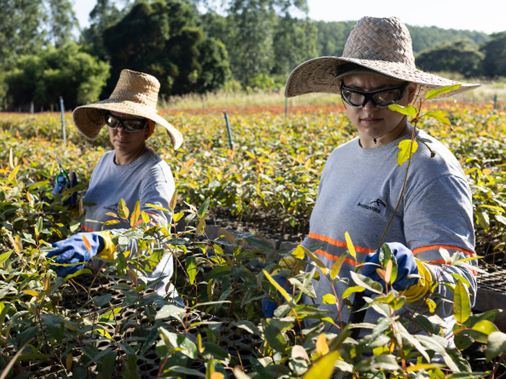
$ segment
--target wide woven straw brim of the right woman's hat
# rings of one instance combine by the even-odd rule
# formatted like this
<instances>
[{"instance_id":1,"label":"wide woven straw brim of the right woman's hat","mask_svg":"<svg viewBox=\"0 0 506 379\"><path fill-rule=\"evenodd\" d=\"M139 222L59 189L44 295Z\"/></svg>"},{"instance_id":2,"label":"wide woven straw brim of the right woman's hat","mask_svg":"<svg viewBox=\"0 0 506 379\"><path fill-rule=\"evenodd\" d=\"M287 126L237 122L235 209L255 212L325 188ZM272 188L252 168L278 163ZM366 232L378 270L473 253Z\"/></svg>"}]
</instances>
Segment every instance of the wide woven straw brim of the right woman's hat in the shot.
<instances>
[{"instance_id":1,"label":"wide woven straw brim of the right woman's hat","mask_svg":"<svg viewBox=\"0 0 506 379\"><path fill-rule=\"evenodd\" d=\"M346 62L369 68L381 75L392 77L392 79L419 84L415 101L425 99L428 91L440 89L444 86L460 84L460 88L441 93L436 98L451 98L458 93L476 89L481 85L456 82L397 62L347 57L317 57L299 64L290 73L285 86L285 96L291 98L305 93L340 93L340 81L336 80L339 75L338 66Z\"/></svg>"}]
</instances>

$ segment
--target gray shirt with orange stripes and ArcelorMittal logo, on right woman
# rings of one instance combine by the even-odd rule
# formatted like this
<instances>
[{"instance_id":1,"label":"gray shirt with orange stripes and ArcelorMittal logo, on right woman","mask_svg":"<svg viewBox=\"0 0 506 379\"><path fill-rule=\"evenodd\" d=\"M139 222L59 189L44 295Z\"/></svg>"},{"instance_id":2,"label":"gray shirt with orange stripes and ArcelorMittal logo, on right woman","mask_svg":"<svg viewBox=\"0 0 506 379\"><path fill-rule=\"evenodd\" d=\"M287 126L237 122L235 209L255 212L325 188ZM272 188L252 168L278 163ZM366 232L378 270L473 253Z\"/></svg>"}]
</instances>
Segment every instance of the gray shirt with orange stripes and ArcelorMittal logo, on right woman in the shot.
<instances>
[{"instance_id":1,"label":"gray shirt with orange stripes and ArcelorMittal logo, on right woman","mask_svg":"<svg viewBox=\"0 0 506 379\"><path fill-rule=\"evenodd\" d=\"M412 156L408 182L392 225L384 242L400 242L412 250L425 263L438 282L455 283L455 273L465 277L469 283L471 304L476 297L476 272L462 266L435 266L444 264L439 248L446 248L450 255L457 252L460 258L474 255L473 207L471 190L462 167L451 151L442 143L417 131L417 136L428 139L437 150L435 157L421 142ZM403 139L409 139L406 136ZM401 139L373 149L360 147L358 138L337 147L329 156L320 181L317 201L311 214L310 232L304 245L324 243L317 250L317 257L331 268L342 254L348 257L340 270L340 277L349 275L365 255L375 252L387 223L399 201L408 163L397 165L397 145ZM344 237L349 232L354 243L356 260L349 255ZM476 260L469 264L476 266ZM321 272L320 272L321 275ZM332 286L323 275L319 281L313 279L317 298L315 303L332 311L337 322L349 320L349 309L344 306L341 317L335 304L322 304L322 296L333 293ZM335 285L338 298L347 285ZM436 293L453 299L446 286L437 286ZM453 304L434 298L436 314L451 324ZM313 299L305 297L308 304ZM399 313L413 311L415 303L407 304ZM425 306L425 311L427 307ZM369 309L365 322L376 324L378 313ZM450 325L448 325L450 326ZM335 331L335 329L334 329Z\"/></svg>"}]
</instances>

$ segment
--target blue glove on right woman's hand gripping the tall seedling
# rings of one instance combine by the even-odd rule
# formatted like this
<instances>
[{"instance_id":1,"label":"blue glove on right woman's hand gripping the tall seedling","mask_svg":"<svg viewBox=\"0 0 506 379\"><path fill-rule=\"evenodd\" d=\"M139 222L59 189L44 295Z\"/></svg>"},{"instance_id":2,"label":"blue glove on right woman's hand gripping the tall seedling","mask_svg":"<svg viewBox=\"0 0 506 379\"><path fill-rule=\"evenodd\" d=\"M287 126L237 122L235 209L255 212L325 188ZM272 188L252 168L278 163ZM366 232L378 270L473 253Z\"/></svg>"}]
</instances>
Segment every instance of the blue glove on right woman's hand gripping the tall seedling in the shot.
<instances>
[{"instance_id":1,"label":"blue glove on right woman's hand gripping the tall seedling","mask_svg":"<svg viewBox=\"0 0 506 379\"><path fill-rule=\"evenodd\" d=\"M408 278L409 275L419 275L417 262L415 261L413 252L406 248L402 243L389 242L387 245L397 261L397 277L392 285L394 290L401 291L418 284L419 277ZM383 286L383 289L385 289L385 281L383 281L376 272L377 268L381 268L380 255L384 254L381 250L382 249L377 252L372 252L365 257L364 263L369 264L363 266L362 274L374 281L377 281Z\"/></svg>"}]
</instances>

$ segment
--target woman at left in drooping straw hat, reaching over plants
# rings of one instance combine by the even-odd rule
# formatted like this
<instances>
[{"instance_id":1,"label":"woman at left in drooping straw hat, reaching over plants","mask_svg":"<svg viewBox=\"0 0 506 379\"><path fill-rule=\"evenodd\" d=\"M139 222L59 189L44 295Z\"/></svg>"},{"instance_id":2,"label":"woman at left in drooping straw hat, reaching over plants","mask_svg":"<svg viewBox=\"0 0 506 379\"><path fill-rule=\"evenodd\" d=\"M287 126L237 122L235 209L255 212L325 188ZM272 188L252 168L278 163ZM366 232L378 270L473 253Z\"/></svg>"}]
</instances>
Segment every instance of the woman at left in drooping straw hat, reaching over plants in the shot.
<instances>
[{"instance_id":1,"label":"woman at left in drooping straw hat, reaching over plants","mask_svg":"<svg viewBox=\"0 0 506 379\"><path fill-rule=\"evenodd\" d=\"M146 146L155 124L166 129L175 149L182 144L181 133L157 114L159 86L158 80L151 75L123 70L109 99L73 111L74 124L90 140L95 140L101 128L107 125L114 150L101 157L91 174L84 198L86 219L81 225L85 232L54 243L55 250L47 255L55 257L55 264L69 264L53 266L59 276L77 272L94 255L108 257L114 251L112 235L130 228L127 222L107 223L115 219L109 214L118 212L121 198L130 211L140 200L141 212L148 214L152 224L167 225L170 221L165 212L148 205L168 209L175 191L171 169ZM91 250L85 247L83 236ZM137 254L137 241L130 240L128 250ZM172 273L173 258L165 255L155 270L147 273L146 280L165 277L157 284L157 293L175 295L169 284Z\"/></svg>"}]
</instances>

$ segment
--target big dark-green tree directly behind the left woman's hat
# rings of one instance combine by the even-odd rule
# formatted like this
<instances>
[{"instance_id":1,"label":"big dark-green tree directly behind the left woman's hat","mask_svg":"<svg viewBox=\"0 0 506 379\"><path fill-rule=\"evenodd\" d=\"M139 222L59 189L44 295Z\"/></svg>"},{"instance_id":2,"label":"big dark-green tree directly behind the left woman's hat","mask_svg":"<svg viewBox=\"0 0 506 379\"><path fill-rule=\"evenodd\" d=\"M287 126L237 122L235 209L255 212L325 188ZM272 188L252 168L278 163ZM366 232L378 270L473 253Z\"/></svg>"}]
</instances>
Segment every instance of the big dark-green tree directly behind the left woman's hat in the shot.
<instances>
[{"instance_id":1,"label":"big dark-green tree directly behind the left woman's hat","mask_svg":"<svg viewBox=\"0 0 506 379\"><path fill-rule=\"evenodd\" d=\"M216 90L229 73L223 44L203 37L194 8L183 1L137 1L105 30L104 43L112 66L105 97L123 68L154 75L164 95Z\"/></svg>"}]
</instances>

